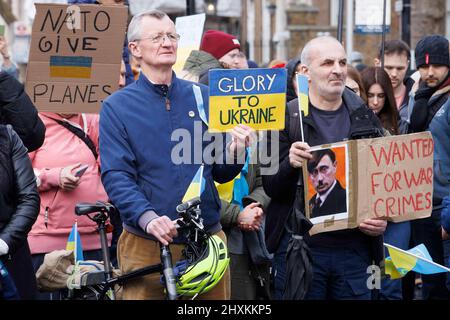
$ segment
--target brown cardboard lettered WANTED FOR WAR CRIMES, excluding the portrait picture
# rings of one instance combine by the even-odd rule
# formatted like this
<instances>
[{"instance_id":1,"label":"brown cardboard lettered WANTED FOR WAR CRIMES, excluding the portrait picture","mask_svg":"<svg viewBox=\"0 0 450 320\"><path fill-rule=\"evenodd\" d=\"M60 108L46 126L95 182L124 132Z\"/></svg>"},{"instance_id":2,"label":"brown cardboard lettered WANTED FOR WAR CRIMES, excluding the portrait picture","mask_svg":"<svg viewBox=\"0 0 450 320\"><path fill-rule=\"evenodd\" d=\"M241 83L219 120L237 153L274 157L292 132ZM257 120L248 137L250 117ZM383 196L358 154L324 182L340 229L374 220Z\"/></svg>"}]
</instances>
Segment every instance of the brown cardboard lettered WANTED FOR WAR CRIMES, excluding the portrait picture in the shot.
<instances>
[{"instance_id":1,"label":"brown cardboard lettered WANTED FOR WAR CRIMES, excluding the portrait picture","mask_svg":"<svg viewBox=\"0 0 450 320\"><path fill-rule=\"evenodd\" d=\"M333 148L342 143L323 145ZM311 229L310 234L352 229L368 218L392 222L429 217L433 209L434 144L430 132L375 139L347 141L348 161L347 215L329 213ZM309 184L310 173L303 168ZM308 188L305 186L305 196ZM331 193L330 193L331 194ZM306 198L309 199L309 198ZM306 202L308 218L312 211Z\"/></svg>"}]
</instances>

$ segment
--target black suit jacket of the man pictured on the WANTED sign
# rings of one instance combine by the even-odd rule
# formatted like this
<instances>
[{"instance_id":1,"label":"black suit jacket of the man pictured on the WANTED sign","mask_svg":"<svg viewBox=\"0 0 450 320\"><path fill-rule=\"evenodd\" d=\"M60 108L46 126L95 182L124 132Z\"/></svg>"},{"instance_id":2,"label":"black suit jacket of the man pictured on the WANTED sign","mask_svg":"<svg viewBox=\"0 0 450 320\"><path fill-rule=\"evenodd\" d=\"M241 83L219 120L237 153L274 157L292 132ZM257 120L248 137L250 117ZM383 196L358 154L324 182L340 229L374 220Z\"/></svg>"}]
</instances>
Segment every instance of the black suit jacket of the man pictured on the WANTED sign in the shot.
<instances>
[{"instance_id":1,"label":"black suit jacket of the man pictured on the WANTED sign","mask_svg":"<svg viewBox=\"0 0 450 320\"><path fill-rule=\"evenodd\" d=\"M317 193L311 198L311 200L309 200L312 218L347 212L347 194L345 189L342 188L341 184L337 180L333 190L331 190L325 198L325 201L318 208L315 206L316 198Z\"/></svg>"}]
</instances>

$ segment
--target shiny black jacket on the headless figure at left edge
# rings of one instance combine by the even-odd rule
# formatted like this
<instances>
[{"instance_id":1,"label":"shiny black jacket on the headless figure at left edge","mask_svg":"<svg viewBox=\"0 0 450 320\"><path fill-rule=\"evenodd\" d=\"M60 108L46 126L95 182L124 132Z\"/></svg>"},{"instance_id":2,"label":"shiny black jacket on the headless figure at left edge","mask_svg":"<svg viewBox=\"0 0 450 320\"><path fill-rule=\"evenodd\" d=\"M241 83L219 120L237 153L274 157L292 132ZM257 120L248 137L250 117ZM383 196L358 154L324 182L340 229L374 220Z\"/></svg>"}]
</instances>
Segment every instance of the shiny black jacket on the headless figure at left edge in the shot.
<instances>
[{"instance_id":1,"label":"shiny black jacket on the headless figure at left edge","mask_svg":"<svg viewBox=\"0 0 450 320\"><path fill-rule=\"evenodd\" d=\"M39 204L27 150L11 126L0 125L0 239L10 254L27 241Z\"/></svg>"}]
</instances>

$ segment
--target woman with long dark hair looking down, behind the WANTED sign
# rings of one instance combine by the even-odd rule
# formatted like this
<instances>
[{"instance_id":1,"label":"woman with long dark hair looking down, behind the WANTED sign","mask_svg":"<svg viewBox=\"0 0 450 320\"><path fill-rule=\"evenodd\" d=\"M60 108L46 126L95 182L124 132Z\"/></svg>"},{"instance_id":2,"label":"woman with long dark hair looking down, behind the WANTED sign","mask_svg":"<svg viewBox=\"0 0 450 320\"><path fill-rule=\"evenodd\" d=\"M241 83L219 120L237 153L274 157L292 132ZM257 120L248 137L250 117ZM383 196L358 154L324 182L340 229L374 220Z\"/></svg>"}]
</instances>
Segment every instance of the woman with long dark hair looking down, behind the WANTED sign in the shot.
<instances>
[{"instance_id":1,"label":"woman with long dark hair looking down, behind the WANTED sign","mask_svg":"<svg viewBox=\"0 0 450 320\"><path fill-rule=\"evenodd\" d=\"M367 67L361 73L367 93L367 105L390 134L406 133L407 126L398 114L389 75L380 67Z\"/></svg>"}]
</instances>

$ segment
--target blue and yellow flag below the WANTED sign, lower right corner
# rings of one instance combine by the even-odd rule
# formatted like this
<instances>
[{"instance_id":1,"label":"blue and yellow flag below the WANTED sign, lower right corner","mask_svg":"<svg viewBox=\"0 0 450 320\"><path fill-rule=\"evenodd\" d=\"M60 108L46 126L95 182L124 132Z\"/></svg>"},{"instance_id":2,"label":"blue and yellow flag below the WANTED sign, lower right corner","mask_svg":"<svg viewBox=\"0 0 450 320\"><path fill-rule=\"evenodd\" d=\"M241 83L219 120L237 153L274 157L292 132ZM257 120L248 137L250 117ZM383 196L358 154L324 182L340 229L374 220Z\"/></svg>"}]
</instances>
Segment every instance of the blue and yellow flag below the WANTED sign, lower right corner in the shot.
<instances>
[{"instance_id":1,"label":"blue and yellow flag below the WANTED sign, lower right corner","mask_svg":"<svg viewBox=\"0 0 450 320\"><path fill-rule=\"evenodd\" d=\"M421 274L435 274L450 272L440 264L433 262L427 248L423 244L409 249L408 251L399 249L387 243L390 256L386 258L386 274L391 276L391 279L399 279L406 275L409 271L414 271Z\"/></svg>"}]
</instances>

